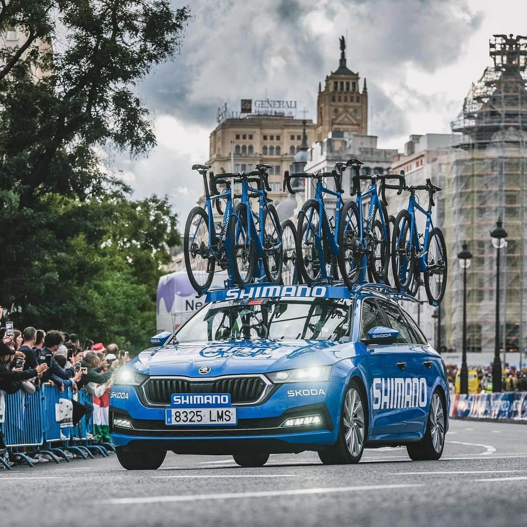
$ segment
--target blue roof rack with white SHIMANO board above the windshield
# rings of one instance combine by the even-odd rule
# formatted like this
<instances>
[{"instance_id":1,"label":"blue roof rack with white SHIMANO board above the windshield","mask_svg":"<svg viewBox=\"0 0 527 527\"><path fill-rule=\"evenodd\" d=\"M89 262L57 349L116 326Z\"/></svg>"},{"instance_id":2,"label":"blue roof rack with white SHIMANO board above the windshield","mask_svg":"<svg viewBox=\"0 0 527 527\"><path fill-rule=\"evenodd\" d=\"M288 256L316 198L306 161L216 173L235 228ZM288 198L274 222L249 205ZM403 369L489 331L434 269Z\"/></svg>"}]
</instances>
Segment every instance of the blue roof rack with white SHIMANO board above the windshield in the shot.
<instances>
[{"instance_id":1,"label":"blue roof rack with white SHIMANO board above the windshield","mask_svg":"<svg viewBox=\"0 0 527 527\"><path fill-rule=\"evenodd\" d=\"M394 287L384 284L359 284L348 289L344 284L327 285L313 284L311 286L279 286L272 282L260 282L249 284L243 288L211 289L207 292L205 302L216 302L222 300L251 300L262 298L335 298L349 299L361 293L373 293L379 296L391 298L392 300L409 301L416 304L424 304L404 292L397 291Z\"/></svg>"}]
</instances>

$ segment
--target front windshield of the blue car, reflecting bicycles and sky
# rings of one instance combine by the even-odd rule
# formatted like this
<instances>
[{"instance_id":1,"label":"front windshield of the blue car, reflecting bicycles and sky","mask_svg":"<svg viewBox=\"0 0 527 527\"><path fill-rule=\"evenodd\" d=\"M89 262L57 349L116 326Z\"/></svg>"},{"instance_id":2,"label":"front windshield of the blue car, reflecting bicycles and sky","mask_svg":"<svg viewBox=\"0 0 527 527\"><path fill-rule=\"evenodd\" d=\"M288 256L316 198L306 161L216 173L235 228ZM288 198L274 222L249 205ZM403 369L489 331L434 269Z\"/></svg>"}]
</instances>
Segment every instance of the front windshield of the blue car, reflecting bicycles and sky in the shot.
<instances>
[{"instance_id":1,"label":"front windshield of the blue car, reflecting bicycles and sky","mask_svg":"<svg viewBox=\"0 0 527 527\"><path fill-rule=\"evenodd\" d=\"M347 340L349 300L213 302L176 333L179 342L232 339Z\"/></svg>"}]
</instances>

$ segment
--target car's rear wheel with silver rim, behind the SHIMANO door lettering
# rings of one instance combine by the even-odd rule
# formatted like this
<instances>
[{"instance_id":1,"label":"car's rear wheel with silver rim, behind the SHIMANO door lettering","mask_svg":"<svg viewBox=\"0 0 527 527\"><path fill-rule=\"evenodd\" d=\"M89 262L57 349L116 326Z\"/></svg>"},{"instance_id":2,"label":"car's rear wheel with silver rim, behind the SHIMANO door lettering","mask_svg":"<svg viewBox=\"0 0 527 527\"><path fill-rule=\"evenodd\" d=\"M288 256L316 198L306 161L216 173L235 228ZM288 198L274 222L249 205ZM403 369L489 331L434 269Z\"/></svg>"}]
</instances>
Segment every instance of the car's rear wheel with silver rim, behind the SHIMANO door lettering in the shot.
<instances>
[{"instance_id":1,"label":"car's rear wheel with silver rim, behind the SHIMANO door lettering","mask_svg":"<svg viewBox=\"0 0 527 527\"><path fill-rule=\"evenodd\" d=\"M439 390L432 394L426 431L422 440L406 445L406 451L414 461L438 460L445 446L446 411Z\"/></svg>"}]
</instances>

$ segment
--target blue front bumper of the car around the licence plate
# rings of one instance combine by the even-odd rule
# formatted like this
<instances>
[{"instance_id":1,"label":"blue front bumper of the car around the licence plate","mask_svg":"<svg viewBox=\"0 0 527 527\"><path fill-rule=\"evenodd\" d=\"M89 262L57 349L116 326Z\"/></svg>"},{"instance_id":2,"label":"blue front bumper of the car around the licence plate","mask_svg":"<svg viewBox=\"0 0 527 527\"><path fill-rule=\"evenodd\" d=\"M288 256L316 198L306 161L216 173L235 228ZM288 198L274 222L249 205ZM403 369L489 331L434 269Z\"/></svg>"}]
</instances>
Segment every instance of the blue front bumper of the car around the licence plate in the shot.
<instances>
[{"instance_id":1,"label":"blue front bumper of the car around the licence plate","mask_svg":"<svg viewBox=\"0 0 527 527\"><path fill-rule=\"evenodd\" d=\"M338 382L279 385L264 403L238 406L237 425L200 427L165 425L164 408L145 406L134 387L115 386L110 406L112 443L127 450L196 454L252 447L269 453L317 450L337 440L343 390L344 384ZM319 415L321 423L282 426L286 419L308 415ZM133 429L115 426L115 417L128 420Z\"/></svg>"}]
</instances>

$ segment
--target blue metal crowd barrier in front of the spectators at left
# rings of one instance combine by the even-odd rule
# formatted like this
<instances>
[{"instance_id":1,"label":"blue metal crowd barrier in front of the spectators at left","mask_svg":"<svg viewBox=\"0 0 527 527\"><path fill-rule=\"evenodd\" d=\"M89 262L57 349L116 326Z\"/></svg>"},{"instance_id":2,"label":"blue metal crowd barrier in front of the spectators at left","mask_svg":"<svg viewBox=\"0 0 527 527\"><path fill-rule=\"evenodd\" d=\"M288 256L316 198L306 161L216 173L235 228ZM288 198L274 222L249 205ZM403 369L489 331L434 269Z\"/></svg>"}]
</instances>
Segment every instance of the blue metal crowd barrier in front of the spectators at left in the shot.
<instances>
[{"instance_id":1,"label":"blue metal crowd barrier in front of the spectators at left","mask_svg":"<svg viewBox=\"0 0 527 527\"><path fill-rule=\"evenodd\" d=\"M14 458L33 466L30 458L19 451L24 447L36 447L33 450L48 454L56 463L60 462L57 456L70 461L71 456L66 452L73 452L83 459L93 458L93 454L109 455L104 446L90 444L88 431L93 430L93 425L91 419L86 422L86 415L75 426L61 428L56 420L55 407L60 399L74 400L83 406L92 404L92 397L84 389L74 394L72 388L66 388L60 393L56 386L43 384L33 394L19 390L15 394L4 394L4 397L5 421L0 424L0 430ZM11 468L2 458L0 465Z\"/></svg>"}]
</instances>

